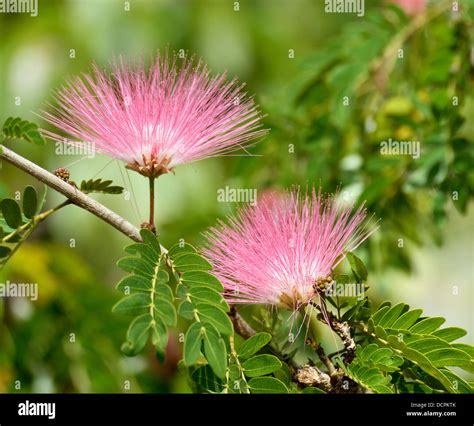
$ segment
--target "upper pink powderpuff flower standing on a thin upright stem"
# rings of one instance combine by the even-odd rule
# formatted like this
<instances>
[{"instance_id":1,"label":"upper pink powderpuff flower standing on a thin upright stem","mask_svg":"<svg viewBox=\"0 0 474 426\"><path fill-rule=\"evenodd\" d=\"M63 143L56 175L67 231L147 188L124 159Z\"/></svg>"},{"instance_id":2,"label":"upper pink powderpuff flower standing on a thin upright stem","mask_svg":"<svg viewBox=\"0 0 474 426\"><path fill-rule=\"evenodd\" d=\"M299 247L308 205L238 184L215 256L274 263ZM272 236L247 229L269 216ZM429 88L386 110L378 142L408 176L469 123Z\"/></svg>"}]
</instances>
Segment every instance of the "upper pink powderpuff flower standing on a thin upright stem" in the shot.
<instances>
[{"instance_id":1,"label":"upper pink powderpuff flower standing on a thin upright stem","mask_svg":"<svg viewBox=\"0 0 474 426\"><path fill-rule=\"evenodd\" d=\"M181 62L178 64L178 62ZM149 70L143 60L114 61L111 74L93 67L56 94L44 119L79 141L44 131L53 140L92 143L148 177L177 165L229 154L264 135L261 114L244 84L210 76L193 59L158 53Z\"/></svg>"}]
</instances>

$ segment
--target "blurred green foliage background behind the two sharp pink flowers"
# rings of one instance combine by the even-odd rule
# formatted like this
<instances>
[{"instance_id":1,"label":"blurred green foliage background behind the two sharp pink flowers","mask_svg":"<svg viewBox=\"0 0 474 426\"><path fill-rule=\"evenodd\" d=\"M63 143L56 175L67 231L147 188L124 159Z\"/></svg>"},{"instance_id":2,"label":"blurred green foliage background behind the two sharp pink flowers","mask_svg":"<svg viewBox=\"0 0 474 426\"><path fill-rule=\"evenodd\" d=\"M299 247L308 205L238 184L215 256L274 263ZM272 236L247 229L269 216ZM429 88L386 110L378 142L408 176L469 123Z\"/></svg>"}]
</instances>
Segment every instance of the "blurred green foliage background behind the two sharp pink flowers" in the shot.
<instances>
[{"instance_id":1,"label":"blurred green foliage background behind the two sharp pink flowers","mask_svg":"<svg viewBox=\"0 0 474 426\"><path fill-rule=\"evenodd\" d=\"M201 56L212 72L247 83L271 132L253 157L205 160L160 177L162 243L202 244L201 232L236 208L217 202L226 185L339 187L381 219L358 250L372 299L445 316L473 343L473 8L465 1L460 12L438 15L432 10L446 2L432 3L418 22L384 1L367 1L358 18L327 14L311 0L40 0L38 17L0 15L0 121L20 116L46 127L36 114L91 62L107 66L113 55L136 59L166 47ZM392 60L399 48L403 57ZM421 141L420 159L380 155L389 137ZM113 179L125 194L95 197L137 226L146 220L147 182L118 161L58 156L52 142L8 146L46 169L68 167L76 181ZM27 184L42 190L1 164L0 198ZM61 200L48 192L48 206ZM178 336L164 364L151 351L120 354L126 320L110 311L119 298L115 262L128 242L67 207L0 271L0 282L39 285L36 302L0 300L0 392L189 390L176 367Z\"/></svg>"}]
</instances>

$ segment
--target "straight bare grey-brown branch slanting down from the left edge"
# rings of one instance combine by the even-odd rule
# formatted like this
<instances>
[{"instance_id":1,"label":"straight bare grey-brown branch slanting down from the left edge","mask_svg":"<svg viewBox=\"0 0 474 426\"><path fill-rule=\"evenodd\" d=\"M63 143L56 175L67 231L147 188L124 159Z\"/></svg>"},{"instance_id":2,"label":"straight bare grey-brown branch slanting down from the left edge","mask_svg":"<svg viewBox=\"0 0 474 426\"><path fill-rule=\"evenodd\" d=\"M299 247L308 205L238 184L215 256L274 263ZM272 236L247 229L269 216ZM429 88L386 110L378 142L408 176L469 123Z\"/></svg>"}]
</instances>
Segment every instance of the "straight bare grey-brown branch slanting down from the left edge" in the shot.
<instances>
[{"instance_id":1,"label":"straight bare grey-brown branch slanting down from the left edge","mask_svg":"<svg viewBox=\"0 0 474 426\"><path fill-rule=\"evenodd\" d=\"M5 159L10 164L13 164L15 167L18 167L54 190L60 192L69 200L71 200L73 204L83 208L84 210L87 210L88 212L102 219L104 222L107 222L109 225L112 225L115 229L120 231L122 234L125 234L132 240L141 241L138 229L130 222L119 216L117 213L103 206L99 202L81 192L79 189L67 182L64 182L57 176L41 168L30 160L27 160L21 155L18 155L12 150L6 148L5 146L2 145L0 150L0 158Z\"/></svg>"}]
</instances>

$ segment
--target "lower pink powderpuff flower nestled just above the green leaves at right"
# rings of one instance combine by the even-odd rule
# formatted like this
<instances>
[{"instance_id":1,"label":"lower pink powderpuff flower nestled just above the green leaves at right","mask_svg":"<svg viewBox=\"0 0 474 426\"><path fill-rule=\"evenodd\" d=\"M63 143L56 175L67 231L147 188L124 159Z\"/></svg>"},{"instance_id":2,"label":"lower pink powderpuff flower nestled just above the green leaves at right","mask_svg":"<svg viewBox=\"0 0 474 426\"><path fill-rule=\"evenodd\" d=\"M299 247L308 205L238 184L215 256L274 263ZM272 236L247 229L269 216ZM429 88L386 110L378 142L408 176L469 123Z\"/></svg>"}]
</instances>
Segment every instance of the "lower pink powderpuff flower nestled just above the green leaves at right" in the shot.
<instances>
[{"instance_id":1,"label":"lower pink powderpuff flower nestled just above the green leaves at right","mask_svg":"<svg viewBox=\"0 0 474 426\"><path fill-rule=\"evenodd\" d=\"M331 281L332 269L376 227L363 225L364 206L353 213L321 190L265 194L254 207L206 233L204 255L229 303L270 304L297 310ZM351 214L352 213L352 214Z\"/></svg>"}]
</instances>

